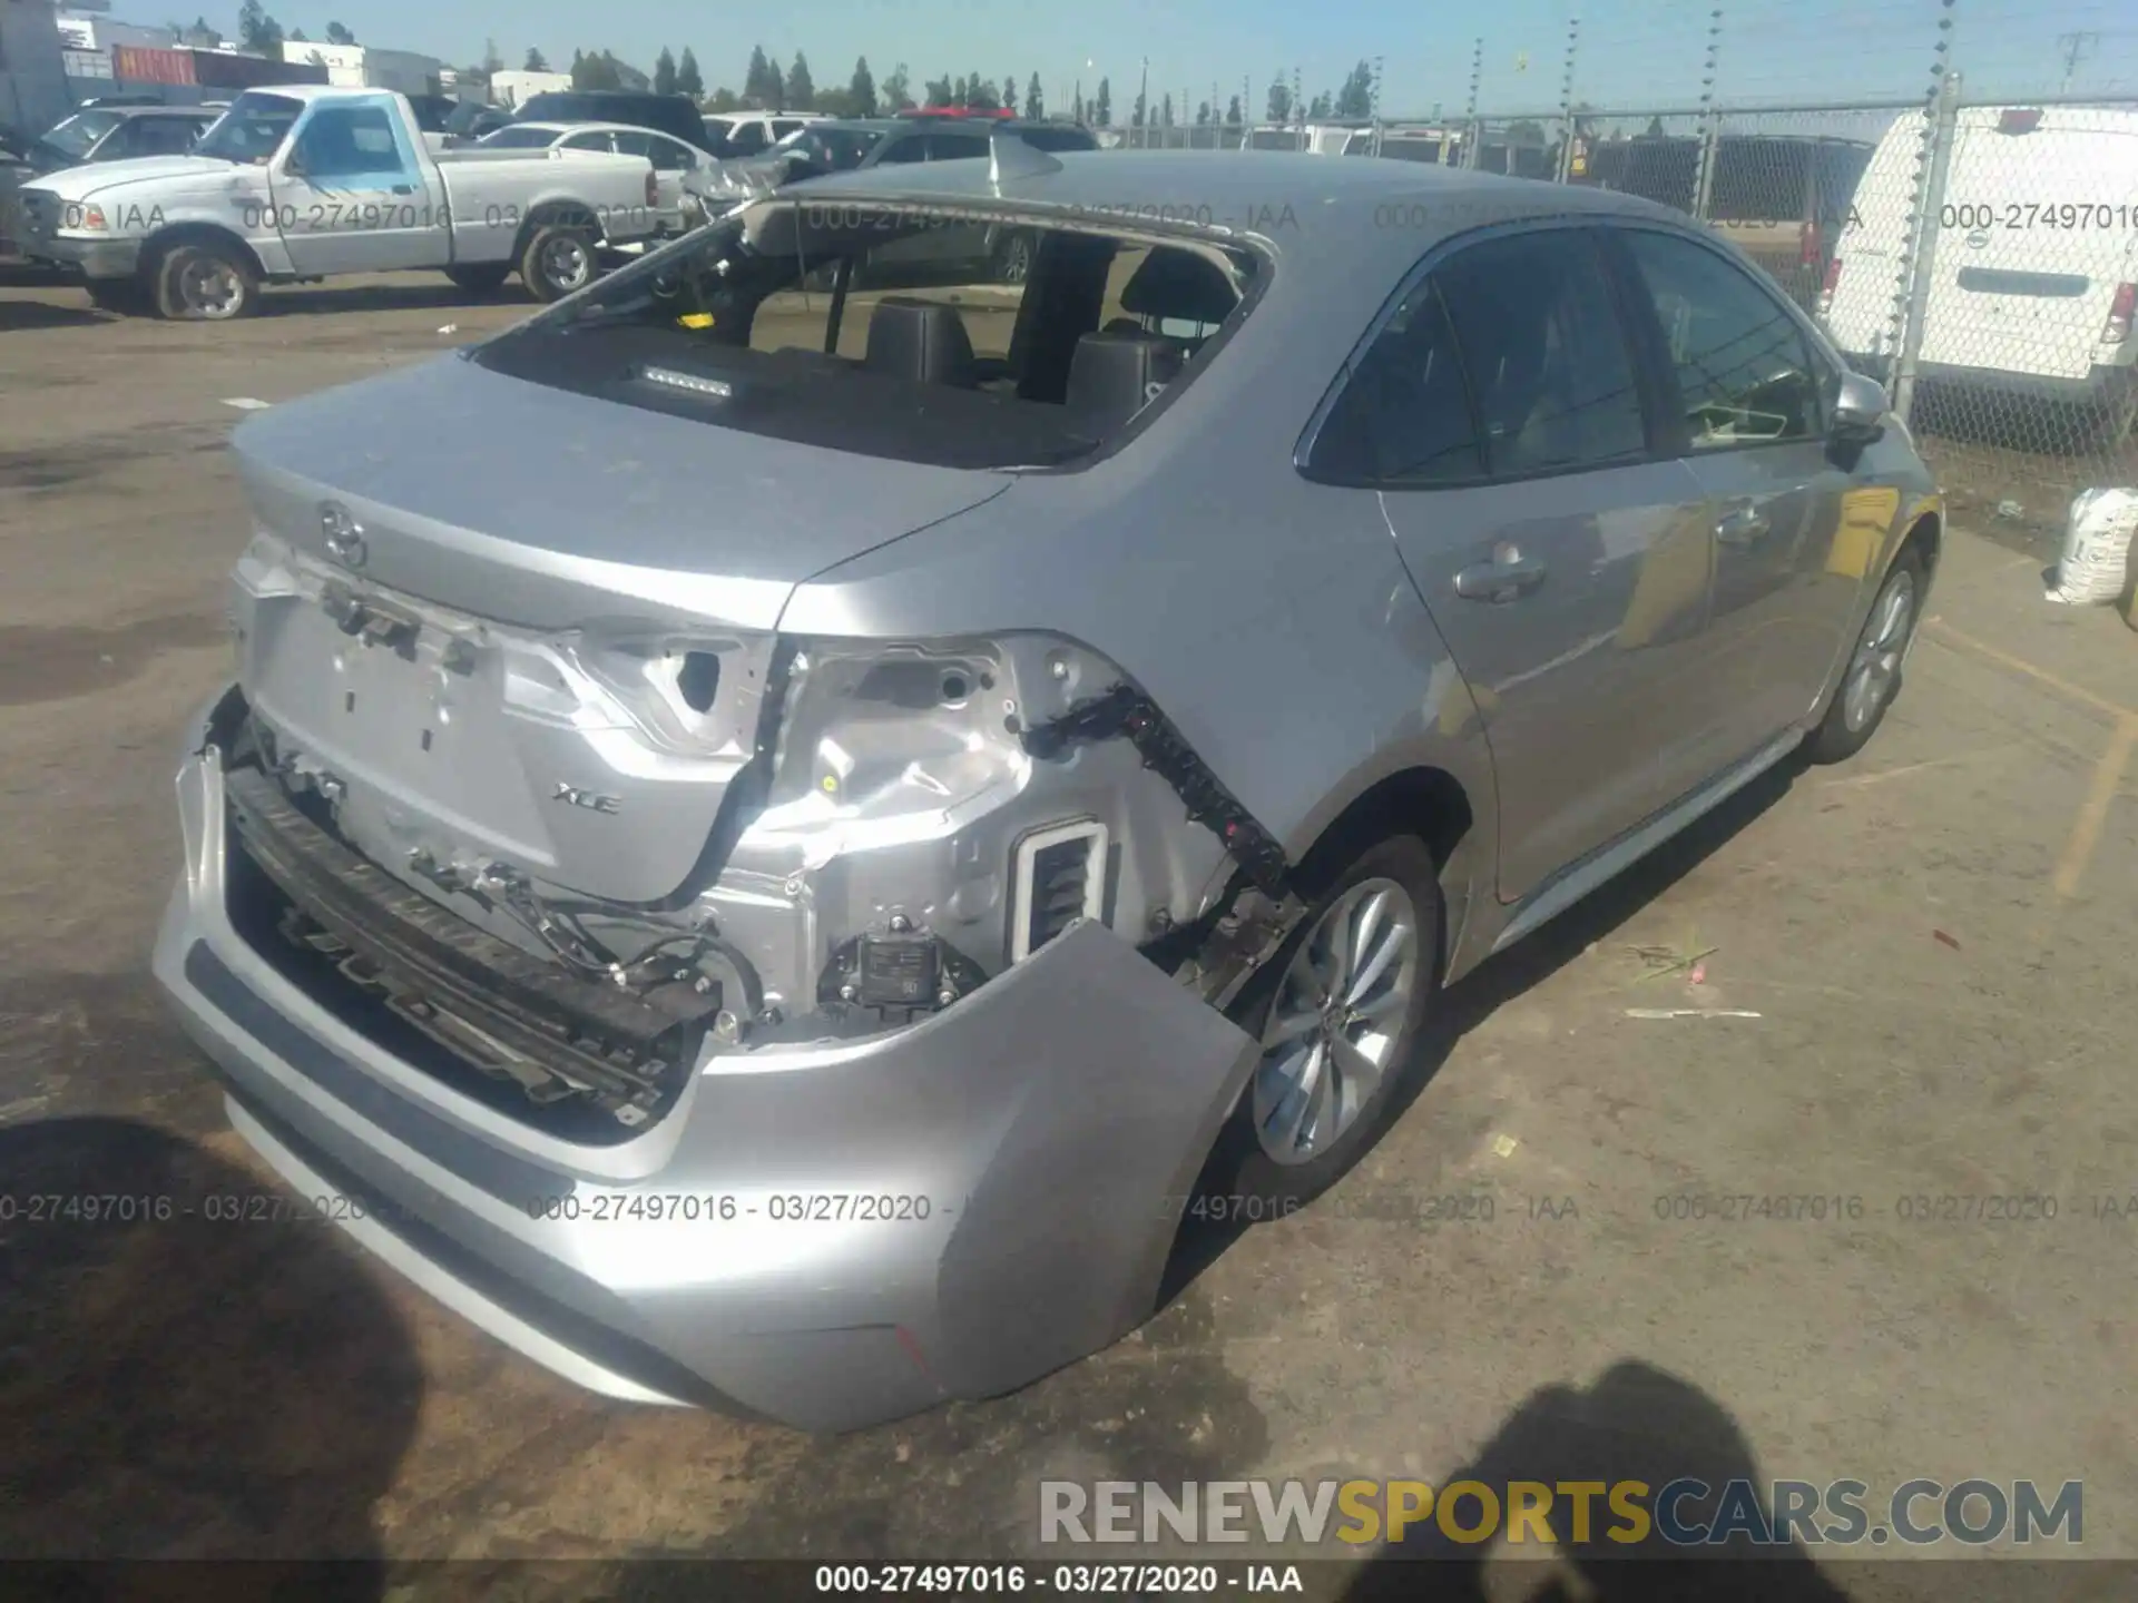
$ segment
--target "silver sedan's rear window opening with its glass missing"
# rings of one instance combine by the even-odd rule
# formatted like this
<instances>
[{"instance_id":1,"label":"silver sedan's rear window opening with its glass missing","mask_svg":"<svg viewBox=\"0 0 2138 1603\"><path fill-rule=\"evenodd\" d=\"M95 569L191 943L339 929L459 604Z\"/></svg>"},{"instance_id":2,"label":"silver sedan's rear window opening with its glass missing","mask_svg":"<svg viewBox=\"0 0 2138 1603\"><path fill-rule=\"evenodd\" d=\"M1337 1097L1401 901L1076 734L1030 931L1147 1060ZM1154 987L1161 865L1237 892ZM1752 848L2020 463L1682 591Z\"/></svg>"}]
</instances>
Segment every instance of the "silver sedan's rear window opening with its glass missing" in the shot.
<instances>
[{"instance_id":1,"label":"silver sedan's rear window opening with its glass missing","mask_svg":"<svg viewBox=\"0 0 2138 1603\"><path fill-rule=\"evenodd\" d=\"M483 346L708 427L945 468L1093 455L1219 359L1261 263L1031 216L763 201Z\"/></svg>"}]
</instances>

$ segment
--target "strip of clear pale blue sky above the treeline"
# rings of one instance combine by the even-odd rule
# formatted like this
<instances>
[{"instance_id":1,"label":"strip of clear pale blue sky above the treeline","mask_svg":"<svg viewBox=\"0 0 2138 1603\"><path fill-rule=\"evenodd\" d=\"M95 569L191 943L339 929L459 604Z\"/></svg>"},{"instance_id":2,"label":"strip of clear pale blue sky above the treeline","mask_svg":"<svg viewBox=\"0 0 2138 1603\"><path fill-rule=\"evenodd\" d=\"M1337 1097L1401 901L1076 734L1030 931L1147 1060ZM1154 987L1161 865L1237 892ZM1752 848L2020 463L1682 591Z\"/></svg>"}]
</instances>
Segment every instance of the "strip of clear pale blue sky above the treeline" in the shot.
<instances>
[{"instance_id":1,"label":"strip of clear pale blue sky above the treeline","mask_svg":"<svg viewBox=\"0 0 2138 1603\"><path fill-rule=\"evenodd\" d=\"M1580 19L1574 94L1601 107L1678 107L1700 96L1708 13L1723 9L1717 94L1738 105L1914 96L1931 81L1939 17L1954 15L1954 56L1973 90L2025 98L2065 75L2059 36L2080 41L2072 90L2138 94L2138 4L2132 0L806 0L708 6L703 0L269 0L284 28L312 38L336 19L372 45L472 62L494 38L517 66L528 45L552 64L575 47L614 49L652 68L663 45L697 51L708 88L740 88L750 45L787 64L808 53L819 83L845 83L855 56L883 79L898 62L915 88L939 75L1037 71L1054 109L1075 79L1090 94L1112 79L1127 120L1142 60L1150 100L1221 98L1251 81L1259 115L1270 79L1302 71L1304 90L1334 90L1362 58L1381 56L1390 115L1458 111L1471 49L1484 34L1479 107L1559 105L1569 19ZM199 0L115 0L113 15L165 21ZM235 32L237 0L207 21Z\"/></svg>"}]
</instances>

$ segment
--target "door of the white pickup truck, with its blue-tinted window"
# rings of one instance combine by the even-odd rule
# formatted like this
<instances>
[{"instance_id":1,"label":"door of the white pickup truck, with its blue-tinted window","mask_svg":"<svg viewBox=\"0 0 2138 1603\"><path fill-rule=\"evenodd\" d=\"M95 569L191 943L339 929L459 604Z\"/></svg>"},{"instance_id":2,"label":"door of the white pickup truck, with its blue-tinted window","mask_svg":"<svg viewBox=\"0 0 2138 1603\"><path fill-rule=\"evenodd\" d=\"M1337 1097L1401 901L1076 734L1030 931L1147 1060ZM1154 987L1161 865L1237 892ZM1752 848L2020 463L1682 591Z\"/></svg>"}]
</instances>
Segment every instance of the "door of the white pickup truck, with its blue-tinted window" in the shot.
<instances>
[{"instance_id":1,"label":"door of the white pickup truck, with its blue-tinted window","mask_svg":"<svg viewBox=\"0 0 2138 1603\"><path fill-rule=\"evenodd\" d=\"M451 261L445 188L389 94L312 103L269 162L269 182L299 276Z\"/></svg>"}]
</instances>

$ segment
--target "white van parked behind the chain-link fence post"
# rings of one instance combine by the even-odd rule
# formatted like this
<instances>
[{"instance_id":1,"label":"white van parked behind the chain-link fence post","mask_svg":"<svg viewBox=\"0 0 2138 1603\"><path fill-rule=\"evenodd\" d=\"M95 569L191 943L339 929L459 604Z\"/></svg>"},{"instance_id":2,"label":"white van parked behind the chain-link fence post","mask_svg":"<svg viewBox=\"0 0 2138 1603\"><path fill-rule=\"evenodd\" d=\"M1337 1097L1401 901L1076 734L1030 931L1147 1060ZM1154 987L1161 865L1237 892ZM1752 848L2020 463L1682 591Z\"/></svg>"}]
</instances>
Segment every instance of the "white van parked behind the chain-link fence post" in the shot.
<instances>
[{"instance_id":1,"label":"white van parked behind the chain-link fence post","mask_svg":"<svg viewBox=\"0 0 2138 1603\"><path fill-rule=\"evenodd\" d=\"M1879 141L1826 267L1819 316L1884 374L1899 351L1922 120ZM1918 374L2080 402L2121 440L2138 413L2138 111L1958 113Z\"/></svg>"}]
</instances>

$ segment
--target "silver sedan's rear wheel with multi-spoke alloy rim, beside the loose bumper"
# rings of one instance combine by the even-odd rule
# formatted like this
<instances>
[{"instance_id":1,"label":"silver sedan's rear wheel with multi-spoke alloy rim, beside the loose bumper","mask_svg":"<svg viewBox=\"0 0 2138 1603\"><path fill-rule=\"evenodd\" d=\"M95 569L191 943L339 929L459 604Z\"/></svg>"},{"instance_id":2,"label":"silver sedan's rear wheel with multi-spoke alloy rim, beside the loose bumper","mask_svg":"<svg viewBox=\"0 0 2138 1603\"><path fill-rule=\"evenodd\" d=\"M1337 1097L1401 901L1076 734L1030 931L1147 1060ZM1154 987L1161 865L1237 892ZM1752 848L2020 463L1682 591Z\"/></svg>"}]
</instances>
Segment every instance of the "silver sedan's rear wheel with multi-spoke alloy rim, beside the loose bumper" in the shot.
<instances>
[{"instance_id":1,"label":"silver sedan's rear wheel with multi-spoke alloy rim, beside the loose bumper","mask_svg":"<svg viewBox=\"0 0 2138 1603\"><path fill-rule=\"evenodd\" d=\"M1328 960L1328 936L1338 928L1366 928L1368 962L1377 962L1381 947L1373 923L1362 917L1368 904L1379 904L1381 938L1403 932L1407 938L1381 964L1381 972L1362 983L1360 964L1338 970ZM1300 928L1231 1009L1234 1022L1261 1041L1266 1052L1204 1165L1197 1184L1202 1216L1246 1223L1276 1218L1319 1197L1373 1148L1398 1105L1398 1090L1415 1069L1420 1034L1439 987L1439 870L1426 842L1390 836L1326 881ZM1338 1020L1334 1009L1317 1011L1311 1002L1317 990L1330 990L1326 981L1332 972L1343 972L1345 983L1358 987L1349 1000L1364 998L1368 1007L1379 1002L1379 1011L1355 1024ZM1345 985L1334 990L1343 1000ZM1315 1022L1304 1030L1281 1024L1306 1017ZM1334 1056L1336 1037L1351 1041L1358 1056ZM1375 1045L1362 1052L1362 1043ZM1293 1120L1302 1114L1296 1086L1306 1075L1287 1075L1287 1064L1298 1069L1302 1058L1315 1054L1321 1062L1313 1094L1336 1099L1336 1118L1319 1135L1313 1135L1313 1126L1330 1116L1330 1105L1313 1109L1308 1099L1304 1118ZM1370 1084L1360 1073L1360 1062L1377 1071ZM1355 1094L1349 1105L1347 1094ZM1287 1141L1283 1137L1291 1124L1298 1129ZM1313 1139L1298 1141L1308 1135Z\"/></svg>"}]
</instances>

